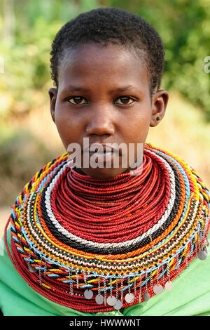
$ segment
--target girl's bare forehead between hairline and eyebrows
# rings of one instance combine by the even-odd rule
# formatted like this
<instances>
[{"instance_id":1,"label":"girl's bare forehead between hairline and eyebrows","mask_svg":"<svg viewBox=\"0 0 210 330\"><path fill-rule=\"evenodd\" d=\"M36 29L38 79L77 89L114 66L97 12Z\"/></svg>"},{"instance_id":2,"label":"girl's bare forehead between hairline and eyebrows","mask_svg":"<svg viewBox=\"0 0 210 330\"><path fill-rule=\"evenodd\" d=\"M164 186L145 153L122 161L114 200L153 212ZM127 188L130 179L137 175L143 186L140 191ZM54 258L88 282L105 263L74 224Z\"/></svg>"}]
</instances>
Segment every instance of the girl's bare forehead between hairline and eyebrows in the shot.
<instances>
[{"instance_id":1,"label":"girl's bare forehead between hairline and eyebrows","mask_svg":"<svg viewBox=\"0 0 210 330\"><path fill-rule=\"evenodd\" d=\"M144 57L132 49L109 44L85 44L64 52L58 72L59 82L69 79L141 79L148 81Z\"/></svg>"}]
</instances>

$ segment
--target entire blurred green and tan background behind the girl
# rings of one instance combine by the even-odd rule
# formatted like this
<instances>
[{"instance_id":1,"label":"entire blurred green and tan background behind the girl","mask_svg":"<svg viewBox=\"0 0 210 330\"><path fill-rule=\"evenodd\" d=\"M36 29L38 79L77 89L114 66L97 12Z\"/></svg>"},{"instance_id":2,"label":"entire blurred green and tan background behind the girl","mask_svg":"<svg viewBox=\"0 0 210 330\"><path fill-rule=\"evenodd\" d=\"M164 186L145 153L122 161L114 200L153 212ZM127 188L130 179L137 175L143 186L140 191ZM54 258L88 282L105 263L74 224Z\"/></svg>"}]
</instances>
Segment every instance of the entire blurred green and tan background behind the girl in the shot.
<instances>
[{"instance_id":1,"label":"entire blurred green and tan background behind the girl","mask_svg":"<svg viewBox=\"0 0 210 330\"><path fill-rule=\"evenodd\" d=\"M186 161L210 187L210 0L0 0L0 236L25 183L65 152L50 117L52 40L67 20L103 6L158 30L170 99L146 142Z\"/></svg>"}]
</instances>

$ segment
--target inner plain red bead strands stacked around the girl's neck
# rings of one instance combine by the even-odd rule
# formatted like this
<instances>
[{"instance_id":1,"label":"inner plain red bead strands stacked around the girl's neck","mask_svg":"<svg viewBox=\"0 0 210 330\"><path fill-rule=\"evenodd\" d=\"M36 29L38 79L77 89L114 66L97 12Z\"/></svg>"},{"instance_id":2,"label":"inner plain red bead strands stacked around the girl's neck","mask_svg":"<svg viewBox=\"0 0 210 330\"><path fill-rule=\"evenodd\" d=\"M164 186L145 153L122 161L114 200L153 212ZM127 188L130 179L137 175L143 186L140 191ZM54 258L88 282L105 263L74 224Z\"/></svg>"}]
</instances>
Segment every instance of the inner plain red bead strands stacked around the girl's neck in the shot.
<instances>
[{"instance_id":1,"label":"inner plain red bead strands stacked around the girl's neck","mask_svg":"<svg viewBox=\"0 0 210 330\"><path fill-rule=\"evenodd\" d=\"M143 168L141 176L123 173L108 181L69 171L53 190L55 217L72 234L94 242L139 236L151 226L151 219L157 222L169 201L168 173L155 161L151 166L146 155Z\"/></svg>"}]
</instances>

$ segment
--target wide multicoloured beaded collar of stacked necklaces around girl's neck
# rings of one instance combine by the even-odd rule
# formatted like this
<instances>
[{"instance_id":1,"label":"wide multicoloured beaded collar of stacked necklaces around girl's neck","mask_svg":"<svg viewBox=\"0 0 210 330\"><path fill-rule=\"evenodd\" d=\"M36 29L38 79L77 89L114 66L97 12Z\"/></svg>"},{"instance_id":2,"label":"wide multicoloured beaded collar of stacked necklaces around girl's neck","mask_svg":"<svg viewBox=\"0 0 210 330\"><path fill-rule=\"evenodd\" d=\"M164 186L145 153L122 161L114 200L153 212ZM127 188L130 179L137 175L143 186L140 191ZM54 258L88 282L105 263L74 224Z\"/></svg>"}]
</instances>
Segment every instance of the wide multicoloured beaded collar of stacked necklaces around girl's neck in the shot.
<instances>
[{"instance_id":1,"label":"wide multicoloured beaded collar of stacked necklaces around girl's neck","mask_svg":"<svg viewBox=\"0 0 210 330\"><path fill-rule=\"evenodd\" d=\"M138 169L95 180L68 156L36 173L8 220L10 259L38 293L82 312L119 310L207 258L210 194L184 161L146 144Z\"/></svg>"}]
</instances>

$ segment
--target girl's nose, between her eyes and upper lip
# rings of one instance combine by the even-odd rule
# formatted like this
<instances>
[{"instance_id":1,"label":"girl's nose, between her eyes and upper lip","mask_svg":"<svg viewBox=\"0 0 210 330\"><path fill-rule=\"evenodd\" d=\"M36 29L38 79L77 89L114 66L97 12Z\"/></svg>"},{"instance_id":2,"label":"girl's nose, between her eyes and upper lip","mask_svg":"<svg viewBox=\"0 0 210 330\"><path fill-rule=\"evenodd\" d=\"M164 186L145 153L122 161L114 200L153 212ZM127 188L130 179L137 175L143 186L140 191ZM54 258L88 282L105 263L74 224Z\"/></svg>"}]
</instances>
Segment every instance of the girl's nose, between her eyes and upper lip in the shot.
<instances>
[{"instance_id":1,"label":"girl's nose, between her eyes and upper lip","mask_svg":"<svg viewBox=\"0 0 210 330\"><path fill-rule=\"evenodd\" d=\"M113 112L110 108L106 109L106 107L101 106L91 111L91 116L88 119L86 127L87 135L113 135L114 132Z\"/></svg>"}]
</instances>

